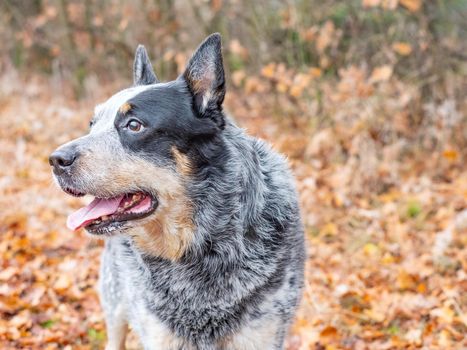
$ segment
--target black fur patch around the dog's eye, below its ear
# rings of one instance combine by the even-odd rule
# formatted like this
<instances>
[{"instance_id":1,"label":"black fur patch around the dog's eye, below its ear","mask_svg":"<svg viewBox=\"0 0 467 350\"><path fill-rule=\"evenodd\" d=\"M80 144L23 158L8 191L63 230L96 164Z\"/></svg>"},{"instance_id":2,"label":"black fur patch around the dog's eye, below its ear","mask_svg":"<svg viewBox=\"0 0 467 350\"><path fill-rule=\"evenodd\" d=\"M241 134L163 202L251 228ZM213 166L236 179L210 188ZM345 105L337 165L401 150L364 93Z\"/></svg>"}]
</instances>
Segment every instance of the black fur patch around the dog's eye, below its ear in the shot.
<instances>
[{"instance_id":1,"label":"black fur patch around the dog's eye, below its ear","mask_svg":"<svg viewBox=\"0 0 467 350\"><path fill-rule=\"evenodd\" d=\"M120 141L129 152L144 154L158 163L172 158L172 146L191 155L194 164L199 163L209 152L206 144L220 131L211 119L193 113L192 96L183 81L155 85L128 103L131 109L118 112L114 122ZM126 125L131 119L140 121L144 130L128 130Z\"/></svg>"}]
</instances>

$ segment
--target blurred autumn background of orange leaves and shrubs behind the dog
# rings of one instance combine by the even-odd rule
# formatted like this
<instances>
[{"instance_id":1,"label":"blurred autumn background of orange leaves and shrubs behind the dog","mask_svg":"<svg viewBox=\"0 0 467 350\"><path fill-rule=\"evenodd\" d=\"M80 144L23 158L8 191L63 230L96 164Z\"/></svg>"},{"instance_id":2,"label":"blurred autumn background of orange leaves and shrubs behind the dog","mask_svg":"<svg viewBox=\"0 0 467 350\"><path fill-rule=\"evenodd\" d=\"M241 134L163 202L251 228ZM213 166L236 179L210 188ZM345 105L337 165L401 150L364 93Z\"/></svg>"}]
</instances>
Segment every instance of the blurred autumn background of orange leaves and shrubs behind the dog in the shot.
<instances>
[{"instance_id":1,"label":"blurred autumn background of orange leaves and shrubs behind the dog","mask_svg":"<svg viewBox=\"0 0 467 350\"><path fill-rule=\"evenodd\" d=\"M48 155L131 85L137 44L171 80L212 32L226 109L297 178L287 349L465 349L466 0L2 0L0 348L103 348L102 244L65 228L82 202Z\"/></svg>"}]
</instances>

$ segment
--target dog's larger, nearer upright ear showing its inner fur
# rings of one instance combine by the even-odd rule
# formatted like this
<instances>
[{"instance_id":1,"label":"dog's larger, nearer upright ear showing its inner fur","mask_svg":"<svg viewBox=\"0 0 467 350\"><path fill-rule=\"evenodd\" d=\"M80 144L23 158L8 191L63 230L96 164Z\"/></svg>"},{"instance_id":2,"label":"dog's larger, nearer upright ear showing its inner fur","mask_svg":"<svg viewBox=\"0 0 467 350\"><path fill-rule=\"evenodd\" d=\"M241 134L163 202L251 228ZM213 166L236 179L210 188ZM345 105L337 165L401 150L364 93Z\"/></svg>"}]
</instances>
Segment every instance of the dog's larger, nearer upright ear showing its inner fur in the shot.
<instances>
[{"instance_id":1,"label":"dog's larger, nearer upright ear showing its inner fur","mask_svg":"<svg viewBox=\"0 0 467 350\"><path fill-rule=\"evenodd\" d=\"M222 129L225 123L222 114L225 79L219 33L204 40L181 77L193 95L193 105L198 116L211 118Z\"/></svg>"}]
</instances>

